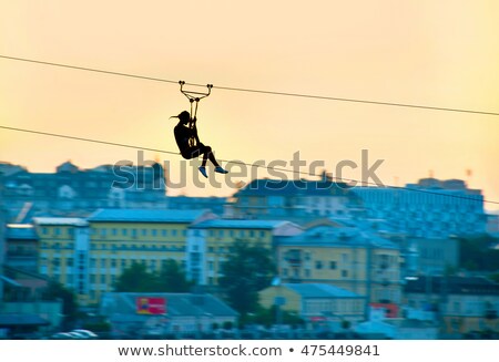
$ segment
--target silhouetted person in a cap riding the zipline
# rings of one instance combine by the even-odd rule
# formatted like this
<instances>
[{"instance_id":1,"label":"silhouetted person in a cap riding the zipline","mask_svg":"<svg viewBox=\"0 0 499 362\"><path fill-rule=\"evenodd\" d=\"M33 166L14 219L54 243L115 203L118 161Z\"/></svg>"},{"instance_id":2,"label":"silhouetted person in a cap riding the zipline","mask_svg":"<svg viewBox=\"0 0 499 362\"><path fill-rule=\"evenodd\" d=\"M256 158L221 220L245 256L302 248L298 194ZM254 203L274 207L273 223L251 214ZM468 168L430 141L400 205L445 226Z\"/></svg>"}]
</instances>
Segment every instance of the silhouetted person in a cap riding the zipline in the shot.
<instances>
[{"instance_id":1,"label":"silhouetted person in a cap riding the zipline","mask_svg":"<svg viewBox=\"0 0 499 362\"><path fill-rule=\"evenodd\" d=\"M198 169L204 177L207 177L207 159L210 159L215 166L215 173L227 174L228 172L222 168L222 166L216 162L212 147L200 142L200 137L197 136L196 118L191 118L191 114L187 111L183 111L173 117L179 118L179 123L173 132L182 157L185 159L191 159L203 155L203 163Z\"/></svg>"}]
</instances>

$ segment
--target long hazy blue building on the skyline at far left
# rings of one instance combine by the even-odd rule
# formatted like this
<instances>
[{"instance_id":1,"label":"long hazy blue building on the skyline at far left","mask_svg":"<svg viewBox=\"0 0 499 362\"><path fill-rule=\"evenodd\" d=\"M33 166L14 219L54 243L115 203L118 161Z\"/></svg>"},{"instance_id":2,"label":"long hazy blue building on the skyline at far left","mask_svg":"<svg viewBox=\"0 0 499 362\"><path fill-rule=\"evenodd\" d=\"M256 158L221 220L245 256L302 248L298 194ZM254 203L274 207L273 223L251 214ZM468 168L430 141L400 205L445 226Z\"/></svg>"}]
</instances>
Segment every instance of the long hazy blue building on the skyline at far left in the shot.
<instances>
[{"instance_id":1,"label":"long hazy blue building on the skyline at far left","mask_svg":"<svg viewBox=\"0 0 499 362\"><path fill-rule=\"evenodd\" d=\"M30 173L2 164L0 178L10 223L34 216L88 216L98 208L165 208L163 167L102 165L81 169L67 162L55 173Z\"/></svg>"}]
</instances>

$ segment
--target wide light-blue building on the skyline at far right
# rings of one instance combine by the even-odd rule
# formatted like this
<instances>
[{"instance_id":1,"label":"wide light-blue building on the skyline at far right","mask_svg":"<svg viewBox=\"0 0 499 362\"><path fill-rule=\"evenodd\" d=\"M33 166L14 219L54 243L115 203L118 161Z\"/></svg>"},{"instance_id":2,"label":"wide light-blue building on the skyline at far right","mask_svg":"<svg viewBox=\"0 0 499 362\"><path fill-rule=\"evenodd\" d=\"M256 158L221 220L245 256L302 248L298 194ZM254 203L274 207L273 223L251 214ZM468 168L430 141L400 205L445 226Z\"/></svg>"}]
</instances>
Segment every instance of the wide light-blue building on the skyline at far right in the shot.
<instances>
[{"instance_id":1,"label":"wide light-blue building on the skyline at far right","mask_svg":"<svg viewBox=\"0 0 499 362\"><path fill-rule=\"evenodd\" d=\"M442 239L486 232L481 190L459 179L424 178L398 187L353 189L369 218L389 221L409 237Z\"/></svg>"}]
</instances>

